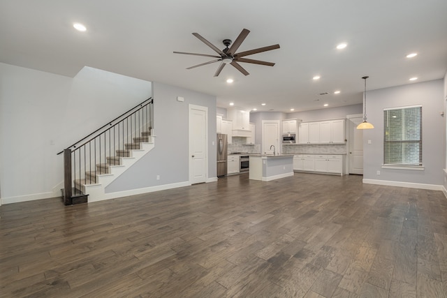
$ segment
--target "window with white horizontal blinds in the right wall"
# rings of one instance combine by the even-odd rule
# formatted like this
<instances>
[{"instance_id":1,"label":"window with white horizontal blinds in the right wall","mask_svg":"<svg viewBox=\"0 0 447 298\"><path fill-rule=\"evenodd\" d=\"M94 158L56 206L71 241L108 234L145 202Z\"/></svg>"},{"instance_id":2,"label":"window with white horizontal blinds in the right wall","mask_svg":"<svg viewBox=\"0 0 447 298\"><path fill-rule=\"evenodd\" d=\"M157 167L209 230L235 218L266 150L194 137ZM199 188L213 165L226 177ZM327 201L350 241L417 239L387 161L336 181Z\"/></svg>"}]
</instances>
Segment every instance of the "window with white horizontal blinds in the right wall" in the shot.
<instances>
[{"instance_id":1,"label":"window with white horizontal blinds in the right wall","mask_svg":"<svg viewBox=\"0 0 447 298\"><path fill-rule=\"evenodd\" d=\"M383 110L383 165L422 166L422 106Z\"/></svg>"}]
</instances>

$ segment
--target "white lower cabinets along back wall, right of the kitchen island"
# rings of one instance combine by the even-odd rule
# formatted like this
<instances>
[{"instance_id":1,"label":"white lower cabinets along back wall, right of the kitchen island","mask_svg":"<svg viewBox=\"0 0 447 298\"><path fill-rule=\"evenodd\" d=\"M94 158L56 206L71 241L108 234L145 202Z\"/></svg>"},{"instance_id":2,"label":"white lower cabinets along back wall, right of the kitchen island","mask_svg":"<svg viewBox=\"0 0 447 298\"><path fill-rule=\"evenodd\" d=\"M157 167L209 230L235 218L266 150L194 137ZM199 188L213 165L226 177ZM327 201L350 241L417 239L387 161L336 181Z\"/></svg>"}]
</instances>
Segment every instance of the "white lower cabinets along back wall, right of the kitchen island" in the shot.
<instances>
[{"instance_id":1,"label":"white lower cabinets along back wall, right of the kitchen island","mask_svg":"<svg viewBox=\"0 0 447 298\"><path fill-rule=\"evenodd\" d=\"M345 174L344 155L298 154L293 156L293 170Z\"/></svg>"}]
</instances>

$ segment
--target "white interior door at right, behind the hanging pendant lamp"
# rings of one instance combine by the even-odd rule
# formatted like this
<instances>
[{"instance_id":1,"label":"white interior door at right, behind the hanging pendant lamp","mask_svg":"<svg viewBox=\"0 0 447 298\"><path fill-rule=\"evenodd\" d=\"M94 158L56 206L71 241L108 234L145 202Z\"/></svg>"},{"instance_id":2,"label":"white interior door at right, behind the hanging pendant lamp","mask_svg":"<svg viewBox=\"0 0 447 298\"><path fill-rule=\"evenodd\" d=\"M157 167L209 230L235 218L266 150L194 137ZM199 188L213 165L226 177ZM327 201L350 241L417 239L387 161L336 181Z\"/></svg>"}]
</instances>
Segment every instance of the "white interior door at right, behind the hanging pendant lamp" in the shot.
<instances>
[{"instance_id":1,"label":"white interior door at right, behind the hanging pendant lamp","mask_svg":"<svg viewBox=\"0 0 447 298\"><path fill-rule=\"evenodd\" d=\"M357 129L362 117L349 118L349 174L363 174L363 130Z\"/></svg>"}]
</instances>

